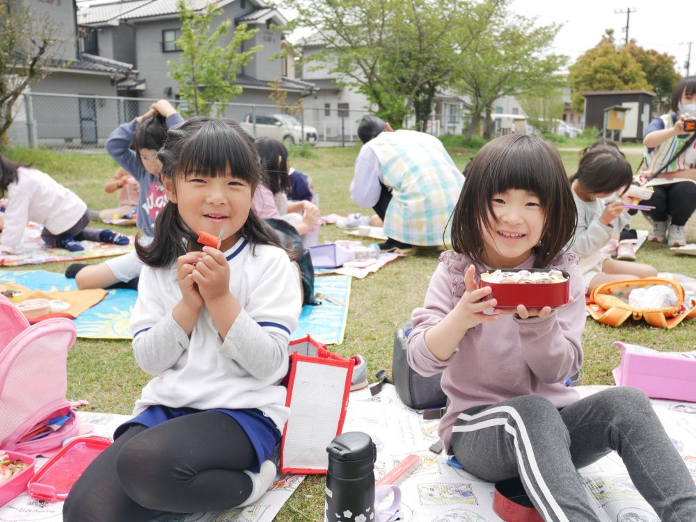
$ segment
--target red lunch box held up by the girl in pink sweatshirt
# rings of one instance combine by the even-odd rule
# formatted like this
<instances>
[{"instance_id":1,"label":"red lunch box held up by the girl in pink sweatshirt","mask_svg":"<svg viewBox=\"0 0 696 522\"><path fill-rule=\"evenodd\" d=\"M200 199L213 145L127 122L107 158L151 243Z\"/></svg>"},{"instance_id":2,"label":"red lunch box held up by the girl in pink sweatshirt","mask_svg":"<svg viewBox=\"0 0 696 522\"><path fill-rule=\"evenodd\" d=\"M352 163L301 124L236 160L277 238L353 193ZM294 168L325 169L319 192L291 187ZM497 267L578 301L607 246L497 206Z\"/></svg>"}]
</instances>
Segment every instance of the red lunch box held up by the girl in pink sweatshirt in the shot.
<instances>
[{"instance_id":1,"label":"red lunch box held up by the girl in pink sweatshirt","mask_svg":"<svg viewBox=\"0 0 696 522\"><path fill-rule=\"evenodd\" d=\"M528 268L529 272L548 272L541 268ZM520 272L521 270L503 270ZM570 298L570 276L562 271L564 281L557 283L491 283L480 280L479 286L490 286L493 291L490 298L496 298L498 308L516 308L523 304L527 308L561 307Z\"/></svg>"}]
</instances>

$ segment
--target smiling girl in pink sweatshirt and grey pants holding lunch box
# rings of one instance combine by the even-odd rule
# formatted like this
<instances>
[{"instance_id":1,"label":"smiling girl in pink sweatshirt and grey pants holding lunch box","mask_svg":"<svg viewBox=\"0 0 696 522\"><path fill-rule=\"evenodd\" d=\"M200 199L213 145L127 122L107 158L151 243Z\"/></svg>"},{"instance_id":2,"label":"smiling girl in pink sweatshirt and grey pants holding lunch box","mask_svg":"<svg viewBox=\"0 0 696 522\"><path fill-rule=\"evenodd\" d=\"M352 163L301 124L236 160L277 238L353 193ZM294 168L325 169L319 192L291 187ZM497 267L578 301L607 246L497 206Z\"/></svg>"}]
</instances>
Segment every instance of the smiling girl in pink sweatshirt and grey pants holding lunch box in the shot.
<instances>
[{"instance_id":1,"label":"smiling girl in pink sweatshirt and grey pants holding lunch box","mask_svg":"<svg viewBox=\"0 0 696 522\"><path fill-rule=\"evenodd\" d=\"M644 393L612 388L581 399L564 384L583 364L585 285L577 256L563 250L576 219L553 145L512 134L482 147L454 209L453 251L440 256L413 311L409 364L443 372L446 450L484 480L519 477L545 521L600 520L576 468L612 450L662 521L693 520L696 485ZM564 270L571 301L497 308L475 277L498 268Z\"/></svg>"}]
</instances>

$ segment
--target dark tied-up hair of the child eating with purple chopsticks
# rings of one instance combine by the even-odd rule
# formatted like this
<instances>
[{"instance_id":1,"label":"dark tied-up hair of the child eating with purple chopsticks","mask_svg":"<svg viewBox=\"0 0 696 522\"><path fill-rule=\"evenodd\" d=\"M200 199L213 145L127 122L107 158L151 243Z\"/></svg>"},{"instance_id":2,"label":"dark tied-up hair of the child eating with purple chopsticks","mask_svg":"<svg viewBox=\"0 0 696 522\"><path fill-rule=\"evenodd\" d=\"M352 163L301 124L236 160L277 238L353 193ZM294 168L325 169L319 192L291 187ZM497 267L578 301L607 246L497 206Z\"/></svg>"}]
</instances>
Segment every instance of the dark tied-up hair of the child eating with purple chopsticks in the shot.
<instances>
[{"instance_id":1,"label":"dark tied-up hair of the child eating with purple chopsticks","mask_svg":"<svg viewBox=\"0 0 696 522\"><path fill-rule=\"evenodd\" d=\"M578 171L570 182L576 180L590 194L625 192L633 181L633 170L615 142L598 140L580 152Z\"/></svg>"}]
</instances>

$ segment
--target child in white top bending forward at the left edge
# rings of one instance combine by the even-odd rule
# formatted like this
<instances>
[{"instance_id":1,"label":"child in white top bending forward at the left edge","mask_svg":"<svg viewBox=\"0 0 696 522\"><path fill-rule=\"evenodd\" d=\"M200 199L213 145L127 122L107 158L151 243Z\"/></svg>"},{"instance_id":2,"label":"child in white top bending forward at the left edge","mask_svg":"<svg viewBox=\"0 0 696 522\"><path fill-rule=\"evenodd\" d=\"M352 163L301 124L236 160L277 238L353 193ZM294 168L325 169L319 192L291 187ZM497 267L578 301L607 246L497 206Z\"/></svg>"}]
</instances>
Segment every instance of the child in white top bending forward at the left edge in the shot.
<instances>
[{"instance_id":1,"label":"child in white top bending forward at the left edge","mask_svg":"<svg viewBox=\"0 0 696 522\"><path fill-rule=\"evenodd\" d=\"M17 254L30 221L43 225L41 238L49 247L78 252L81 240L127 245L127 236L109 229L90 229L87 204L77 194L40 170L13 163L0 154L0 197L7 195L0 252Z\"/></svg>"}]
</instances>

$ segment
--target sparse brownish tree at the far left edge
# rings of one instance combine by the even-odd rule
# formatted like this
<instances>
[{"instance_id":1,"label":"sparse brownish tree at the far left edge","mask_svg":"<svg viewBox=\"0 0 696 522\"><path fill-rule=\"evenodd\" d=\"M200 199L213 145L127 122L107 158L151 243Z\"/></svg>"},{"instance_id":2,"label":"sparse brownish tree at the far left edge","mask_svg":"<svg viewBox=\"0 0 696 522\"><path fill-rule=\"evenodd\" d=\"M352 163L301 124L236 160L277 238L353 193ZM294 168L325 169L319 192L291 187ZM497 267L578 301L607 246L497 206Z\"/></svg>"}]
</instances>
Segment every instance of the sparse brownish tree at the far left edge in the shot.
<instances>
[{"instance_id":1,"label":"sparse brownish tree at the far left edge","mask_svg":"<svg viewBox=\"0 0 696 522\"><path fill-rule=\"evenodd\" d=\"M44 79L64 43L48 16L31 13L12 0L0 0L0 143L15 120L22 92Z\"/></svg>"}]
</instances>

